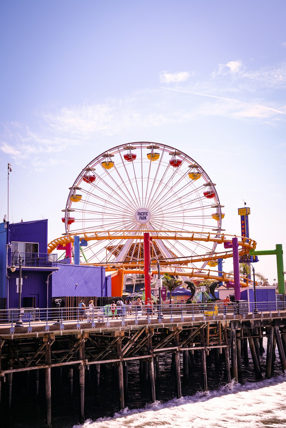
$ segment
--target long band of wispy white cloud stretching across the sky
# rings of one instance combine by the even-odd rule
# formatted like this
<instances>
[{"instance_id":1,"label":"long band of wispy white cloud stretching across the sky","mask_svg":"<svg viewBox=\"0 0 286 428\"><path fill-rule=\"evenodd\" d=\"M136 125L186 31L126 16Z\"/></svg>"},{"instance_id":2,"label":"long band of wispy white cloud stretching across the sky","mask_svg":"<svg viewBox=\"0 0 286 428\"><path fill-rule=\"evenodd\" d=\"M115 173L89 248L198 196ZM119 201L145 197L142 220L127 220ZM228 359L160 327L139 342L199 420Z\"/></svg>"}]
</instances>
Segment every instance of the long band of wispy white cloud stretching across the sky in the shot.
<instances>
[{"instance_id":1,"label":"long band of wispy white cloud stretching across the sky","mask_svg":"<svg viewBox=\"0 0 286 428\"><path fill-rule=\"evenodd\" d=\"M40 169L51 165L55 154L73 146L92 146L96 138L189 123L198 117L272 124L285 120L286 106L271 97L271 89L283 89L286 83L285 63L248 70L241 60L232 60L220 64L212 78L190 82L190 75L188 71L161 73L165 85L157 89L47 109L36 114L33 125L11 122L4 127L0 150L23 164L29 159ZM169 86L172 82L177 83L175 88ZM262 90L265 86L267 91Z\"/></svg>"}]
</instances>

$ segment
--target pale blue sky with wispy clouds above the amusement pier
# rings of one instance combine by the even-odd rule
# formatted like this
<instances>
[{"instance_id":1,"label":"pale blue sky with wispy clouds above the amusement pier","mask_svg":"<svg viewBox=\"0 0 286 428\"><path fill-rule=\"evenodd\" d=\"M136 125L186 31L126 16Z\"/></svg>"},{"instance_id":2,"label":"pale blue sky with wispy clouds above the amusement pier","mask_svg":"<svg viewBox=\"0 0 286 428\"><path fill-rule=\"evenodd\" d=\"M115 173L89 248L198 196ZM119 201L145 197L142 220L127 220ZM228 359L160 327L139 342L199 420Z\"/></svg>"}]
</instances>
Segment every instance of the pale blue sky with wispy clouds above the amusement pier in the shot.
<instances>
[{"instance_id":1,"label":"pale blue sky with wispy clouds above the amusement pier","mask_svg":"<svg viewBox=\"0 0 286 428\"><path fill-rule=\"evenodd\" d=\"M55 238L102 148L158 141L217 183L226 232L244 199L258 249L286 248L285 16L284 1L3 1L0 204L10 162L13 220L41 213ZM275 258L256 266L277 277Z\"/></svg>"}]
</instances>

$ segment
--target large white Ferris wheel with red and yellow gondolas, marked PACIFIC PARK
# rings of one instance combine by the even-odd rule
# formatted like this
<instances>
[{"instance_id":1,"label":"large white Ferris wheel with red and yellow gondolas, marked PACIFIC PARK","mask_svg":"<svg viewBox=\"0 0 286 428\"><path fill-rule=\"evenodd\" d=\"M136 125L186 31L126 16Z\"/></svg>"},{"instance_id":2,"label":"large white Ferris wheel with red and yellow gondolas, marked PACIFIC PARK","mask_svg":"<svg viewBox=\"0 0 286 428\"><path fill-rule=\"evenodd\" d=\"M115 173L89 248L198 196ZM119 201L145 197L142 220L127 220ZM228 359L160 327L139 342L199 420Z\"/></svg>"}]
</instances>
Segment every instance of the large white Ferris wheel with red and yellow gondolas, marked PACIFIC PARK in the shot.
<instances>
[{"instance_id":1,"label":"large white Ferris wheel with red and yellow gondolas, marked PACIFIC PARK","mask_svg":"<svg viewBox=\"0 0 286 428\"><path fill-rule=\"evenodd\" d=\"M135 263L143 256L143 231L221 232L224 216L215 183L195 160L165 144L114 147L82 169L69 187L66 234L129 231L133 239L90 241L82 262ZM174 233L174 232L173 232ZM158 259L214 253L217 243L168 239L151 243ZM204 268L207 262L202 262ZM198 266L196 266L198 267Z\"/></svg>"}]
</instances>

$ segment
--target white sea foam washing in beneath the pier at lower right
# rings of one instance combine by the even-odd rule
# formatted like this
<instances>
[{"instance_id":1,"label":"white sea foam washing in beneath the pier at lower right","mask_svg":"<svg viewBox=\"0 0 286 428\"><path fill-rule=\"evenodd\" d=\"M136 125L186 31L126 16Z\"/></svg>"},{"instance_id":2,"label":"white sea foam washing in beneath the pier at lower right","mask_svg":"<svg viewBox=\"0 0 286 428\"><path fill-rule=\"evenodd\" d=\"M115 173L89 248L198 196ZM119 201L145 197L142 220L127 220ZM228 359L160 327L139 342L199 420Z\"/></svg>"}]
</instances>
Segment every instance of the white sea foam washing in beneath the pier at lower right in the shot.
<instances>
[{"instance_id":1,"label":"white sea foam washing in beneath the pier at lower right","mask_svg":"<svg viewBox=\"0 0 286 428\"><path fill-rule=\"evenodd\" d=\"M284 428L286 377L259 383L229 383L217 391L155 403L144 409L115 413L112 418L86 420L74 428Z\"/></svg>"}]
</instances>

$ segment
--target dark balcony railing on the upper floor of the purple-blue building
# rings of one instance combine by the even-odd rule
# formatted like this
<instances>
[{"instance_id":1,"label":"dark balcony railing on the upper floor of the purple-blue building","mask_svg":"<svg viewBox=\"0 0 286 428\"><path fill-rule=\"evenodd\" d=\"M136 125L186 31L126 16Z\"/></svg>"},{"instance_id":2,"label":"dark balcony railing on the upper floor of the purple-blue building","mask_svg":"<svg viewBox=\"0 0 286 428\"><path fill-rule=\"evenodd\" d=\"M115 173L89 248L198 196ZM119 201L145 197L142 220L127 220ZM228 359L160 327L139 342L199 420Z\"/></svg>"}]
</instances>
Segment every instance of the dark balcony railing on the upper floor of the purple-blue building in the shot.
<instances>
[{"instance_id":1,"label":"dark balcony railing on the upper floor of the purple-blue building","mask_svg":"<svg viewBox=\"0 0 286 428\"><path fill-rule=\"evenodd\" d=\"M57 266L57 254L48 253L20 253L22 266L27 268L49 268ZM19 253L10 253L8 255L8 266L14 264L19 266Z\"/></svg>"}]
</instances>

